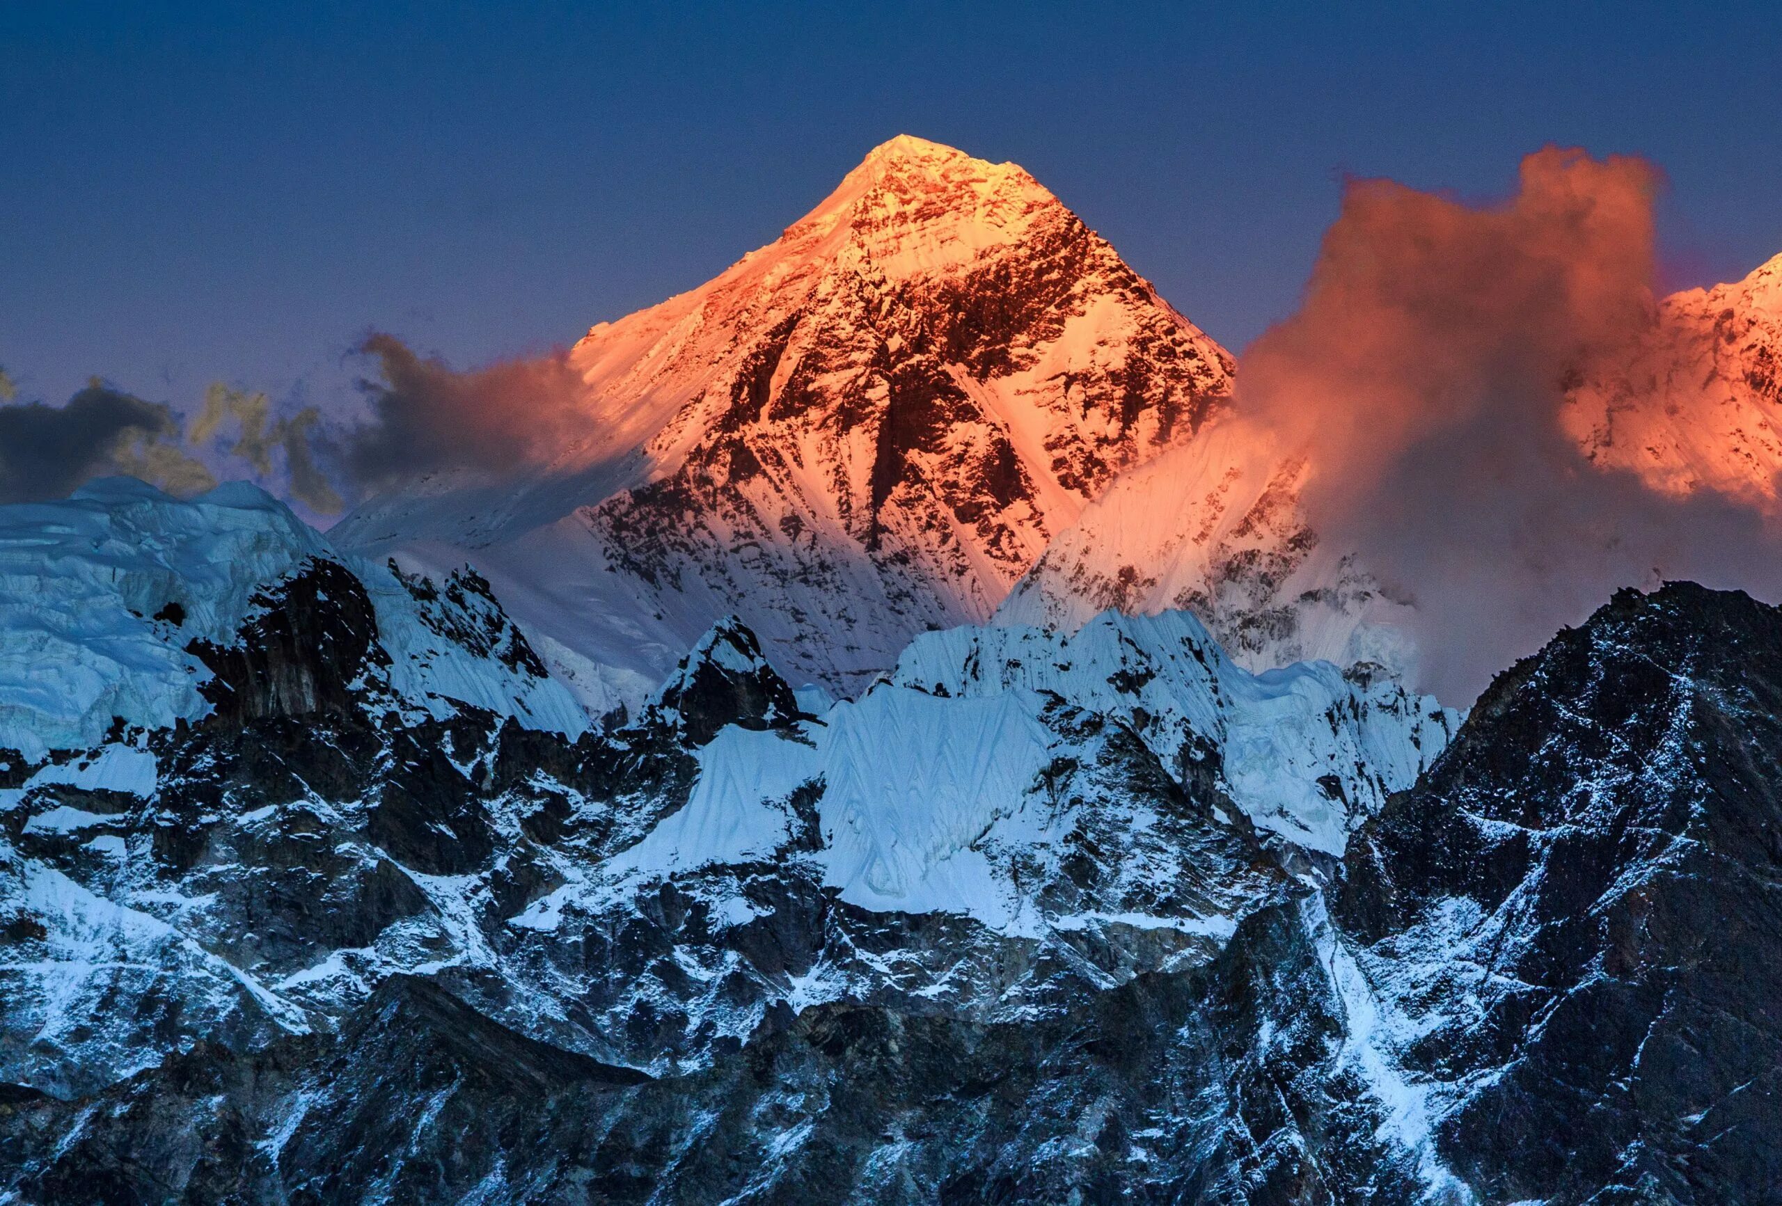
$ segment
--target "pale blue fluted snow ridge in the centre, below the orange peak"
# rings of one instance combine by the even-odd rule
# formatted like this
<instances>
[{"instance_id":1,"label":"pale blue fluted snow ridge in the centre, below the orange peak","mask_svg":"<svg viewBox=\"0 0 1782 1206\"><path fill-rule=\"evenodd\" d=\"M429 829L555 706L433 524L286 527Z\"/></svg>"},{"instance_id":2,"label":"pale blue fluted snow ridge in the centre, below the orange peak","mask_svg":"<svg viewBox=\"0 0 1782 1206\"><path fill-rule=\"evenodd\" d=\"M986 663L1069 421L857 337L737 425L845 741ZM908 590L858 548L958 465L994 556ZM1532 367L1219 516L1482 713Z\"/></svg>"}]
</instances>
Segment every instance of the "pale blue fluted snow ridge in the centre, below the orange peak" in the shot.
<instances>
[{"instance_id":1,"label":"pale blue fluted snow ridge in the centre, below the orange peak","mask_svg":"<svg viewBox=\"0 0 1782 1206\"><path fill-rule=\"evenodd\" d=\"M672 684L729 663L738 675L770 673L759 657L738 657L725 625L700 650ZM599 868L606 887L570 884L522 925L554 925L567 903L613 885L634 891L802 852L862 909L964 914L1005 935L1069 930L1085 916L1042 898L1073 837L1085 827L1142 834L1162 807L1119 786L1133 761L1112 730L1137 734L1176 784L1226 793L1256 828L1340 855L1349 832L1410 787L1458 725L1458 713L1379 668L1345 675L1308 663L1253 675L1181 611L1108 611L1073 636L930 632L859 700L702 741L686 805ZM1233 819L1208 814L1206 832ZM1157 889L1205 873L1201 859L1173 846L1139 878ZM1230 914L1133 910L1123 903L1132 887L1103 887L1092 912L1230 932Z\"/></svg>"}]
</instances>

